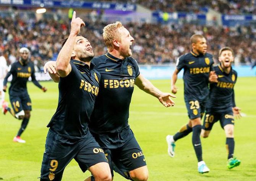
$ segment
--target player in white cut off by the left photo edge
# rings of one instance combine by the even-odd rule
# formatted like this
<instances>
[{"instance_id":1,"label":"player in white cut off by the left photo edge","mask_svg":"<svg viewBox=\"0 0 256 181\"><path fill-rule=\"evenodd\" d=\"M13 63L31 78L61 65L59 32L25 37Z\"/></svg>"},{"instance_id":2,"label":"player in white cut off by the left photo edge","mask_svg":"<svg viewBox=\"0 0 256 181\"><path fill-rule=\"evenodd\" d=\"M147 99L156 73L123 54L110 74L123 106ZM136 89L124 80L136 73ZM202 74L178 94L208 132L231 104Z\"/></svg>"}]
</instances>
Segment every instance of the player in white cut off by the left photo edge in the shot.
<instances>
[{"instance_id":1,"label":"player in white cut off by the left photo edge","mask_svg":"<svg viewBox=\"0 0 256 181\"><path fill-rule=\"evenodd\" d=\"M0 56L0 106L2 106L2 104L5 102L5 92L3 91L3 79L5 78L8 72L7 61L6 61L7 59L8 59L8 52L4 51L3 55Z\"/></svg>"}]
</instances>

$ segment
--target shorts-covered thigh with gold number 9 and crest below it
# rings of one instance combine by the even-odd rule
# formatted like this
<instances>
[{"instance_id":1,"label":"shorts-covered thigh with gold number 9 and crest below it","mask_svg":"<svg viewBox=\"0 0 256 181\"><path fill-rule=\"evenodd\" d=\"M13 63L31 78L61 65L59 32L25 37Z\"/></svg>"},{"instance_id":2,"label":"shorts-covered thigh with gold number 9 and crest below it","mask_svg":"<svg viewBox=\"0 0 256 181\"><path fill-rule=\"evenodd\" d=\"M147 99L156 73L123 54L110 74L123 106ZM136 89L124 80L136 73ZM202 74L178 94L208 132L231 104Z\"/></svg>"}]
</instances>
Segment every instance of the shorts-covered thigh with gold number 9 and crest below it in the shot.
<instances>
[{"instance_id":1,"label":"shorts-covered thigh with gold number 9 and crest below it","mask_svg":"<svg viewBox=\"0 0 256 181\"><path fill-rule=\"evenodd\" d=\"M77 153L77 147L74 141L49 130L45 142L41 180L61 180L66 165Z\"/></svg>"}]
</instances>

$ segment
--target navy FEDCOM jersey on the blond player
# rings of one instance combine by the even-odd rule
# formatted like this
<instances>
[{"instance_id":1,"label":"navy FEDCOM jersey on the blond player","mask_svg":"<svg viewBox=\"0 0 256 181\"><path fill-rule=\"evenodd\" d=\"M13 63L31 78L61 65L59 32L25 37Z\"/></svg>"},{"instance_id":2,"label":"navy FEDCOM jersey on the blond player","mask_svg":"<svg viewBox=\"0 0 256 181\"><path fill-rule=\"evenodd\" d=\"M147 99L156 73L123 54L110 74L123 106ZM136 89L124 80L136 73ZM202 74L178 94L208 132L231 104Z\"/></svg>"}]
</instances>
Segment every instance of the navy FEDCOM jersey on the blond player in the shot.
<instances>
[{"instance_id":1,"label":"navy FEDCOM jersey on the blond player","mask_svg":"<svg viewBox=\"0 0 256 181\"><path fill-rule=\"evenodd\" d=\"M129 107L139 67L135 59L124 60L107 53L92 59L100 72L100 90L89 125L93 133L117 132L128 127Z\"/></svg>"}]
</instances>

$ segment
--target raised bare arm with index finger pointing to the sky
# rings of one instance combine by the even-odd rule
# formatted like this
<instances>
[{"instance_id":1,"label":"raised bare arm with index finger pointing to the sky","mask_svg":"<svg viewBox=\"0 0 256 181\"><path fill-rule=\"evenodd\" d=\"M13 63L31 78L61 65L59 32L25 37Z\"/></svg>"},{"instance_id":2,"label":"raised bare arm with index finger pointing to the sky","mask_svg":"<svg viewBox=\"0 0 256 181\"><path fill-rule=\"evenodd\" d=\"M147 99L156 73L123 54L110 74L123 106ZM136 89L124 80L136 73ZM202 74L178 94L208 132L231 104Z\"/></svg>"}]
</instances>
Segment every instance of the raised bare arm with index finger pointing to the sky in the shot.
<instances>
[{"instance_id":1,"label":"raised bare arm with index finger pointing to the sky","mask_svg":"<svg viewBox=\"0 0 256 181\"><path fill-rule=\"evenodd\" d=\"M70 59L75 43L76 35L79 34L80 28L85 26L81 18L76 18L76 11L73 12L71 20L71 31L66 43L60 50L56 61L56 70L60 77L66 77L71 72Z\"/></svg>"}]
</instances>

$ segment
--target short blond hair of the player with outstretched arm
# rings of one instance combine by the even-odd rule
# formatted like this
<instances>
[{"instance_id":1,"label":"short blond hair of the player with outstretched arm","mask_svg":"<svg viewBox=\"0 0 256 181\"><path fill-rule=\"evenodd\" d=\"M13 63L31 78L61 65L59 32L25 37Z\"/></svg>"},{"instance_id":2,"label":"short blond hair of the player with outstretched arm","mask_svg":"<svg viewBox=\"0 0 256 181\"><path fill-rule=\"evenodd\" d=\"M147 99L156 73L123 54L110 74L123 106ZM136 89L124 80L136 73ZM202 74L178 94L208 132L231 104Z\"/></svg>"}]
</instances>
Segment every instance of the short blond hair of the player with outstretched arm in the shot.
<instances>
[{"instance_id":1,"label":"short blond hair of the player with outstretched arm","mask_svg":"<svg viewBox=\"0 0 256 181\"><path fill-rule=\"evenodd\" d=\"M124 27L120 21L117 21L112 24L108 24L103 29L103 39L104 43L107 46L107 49L109 51L112 51L114 49L113 40L120 41L121 35L118 31L118 28Z\"/></svg>"}]
</instances>

